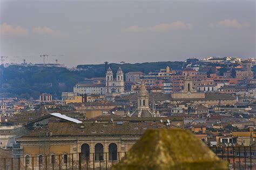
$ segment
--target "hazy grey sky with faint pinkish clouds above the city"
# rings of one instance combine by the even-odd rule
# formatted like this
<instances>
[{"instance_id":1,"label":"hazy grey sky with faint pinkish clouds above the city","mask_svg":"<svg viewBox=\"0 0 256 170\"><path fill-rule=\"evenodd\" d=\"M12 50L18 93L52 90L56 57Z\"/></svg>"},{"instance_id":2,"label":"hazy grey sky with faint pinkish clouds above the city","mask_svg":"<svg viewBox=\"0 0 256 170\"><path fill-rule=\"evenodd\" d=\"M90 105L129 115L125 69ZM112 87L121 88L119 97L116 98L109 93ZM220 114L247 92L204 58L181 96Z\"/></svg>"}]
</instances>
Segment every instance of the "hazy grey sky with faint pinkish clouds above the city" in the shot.
<instances>
[{"instance_id":1,"label":"hazy grey sky with faint pinkish clouds above the city","mask_svg":"<svg viewBox=\"0 0 256 170\"><path fill-rule=\"evenodd\" d=\"M3 1L5 62L98 64L255 57L255 1ZM20 57L15 57L20 56Z\"/></svg>"}]
</instances>

